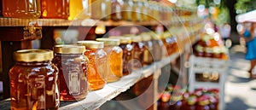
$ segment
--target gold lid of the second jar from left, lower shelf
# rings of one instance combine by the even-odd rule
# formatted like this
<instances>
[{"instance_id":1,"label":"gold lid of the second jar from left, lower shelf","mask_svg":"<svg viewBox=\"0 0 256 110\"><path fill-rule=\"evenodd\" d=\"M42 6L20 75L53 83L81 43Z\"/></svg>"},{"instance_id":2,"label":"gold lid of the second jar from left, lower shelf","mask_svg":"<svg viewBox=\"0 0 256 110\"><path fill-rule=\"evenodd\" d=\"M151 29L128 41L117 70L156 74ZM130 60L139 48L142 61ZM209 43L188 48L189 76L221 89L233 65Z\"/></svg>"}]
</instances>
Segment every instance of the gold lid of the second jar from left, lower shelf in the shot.
<instances>
[{"instance_id":1,"label":"gold lid of the second jar from left, lower shelf","mask_svg":"<svg viewBox=\"0 0 256 110\"><path fill-rule=\"evenodd\" d=\"M54 52L59 54L82 54L85 51L85 46L82 45L55 45Z\"/></svg>"}]
</instances>

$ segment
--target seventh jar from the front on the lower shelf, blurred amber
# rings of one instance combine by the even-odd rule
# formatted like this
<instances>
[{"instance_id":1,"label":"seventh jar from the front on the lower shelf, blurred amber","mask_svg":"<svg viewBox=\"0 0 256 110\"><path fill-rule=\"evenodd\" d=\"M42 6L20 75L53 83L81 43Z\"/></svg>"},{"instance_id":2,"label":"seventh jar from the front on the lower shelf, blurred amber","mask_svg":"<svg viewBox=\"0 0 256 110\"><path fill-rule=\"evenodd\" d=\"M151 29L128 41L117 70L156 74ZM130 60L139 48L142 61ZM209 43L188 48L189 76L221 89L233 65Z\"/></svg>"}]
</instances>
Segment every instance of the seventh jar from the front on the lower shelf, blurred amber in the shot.
<instances>
[{"instance_id":1,"label":"seventh jar from the front on the lower shelf, blurred amber","mask_svg":"<svg viewBox=\"0 0 256 110\"><path fill-rule=\"evenodd\" d=\"M143 38L143 44L145 45L145 50L143 53L143 67L150 65L154 59L153 59L153 43L151 41L151 36L143 32L140 35Z\"/></svg>"}]
</instances>

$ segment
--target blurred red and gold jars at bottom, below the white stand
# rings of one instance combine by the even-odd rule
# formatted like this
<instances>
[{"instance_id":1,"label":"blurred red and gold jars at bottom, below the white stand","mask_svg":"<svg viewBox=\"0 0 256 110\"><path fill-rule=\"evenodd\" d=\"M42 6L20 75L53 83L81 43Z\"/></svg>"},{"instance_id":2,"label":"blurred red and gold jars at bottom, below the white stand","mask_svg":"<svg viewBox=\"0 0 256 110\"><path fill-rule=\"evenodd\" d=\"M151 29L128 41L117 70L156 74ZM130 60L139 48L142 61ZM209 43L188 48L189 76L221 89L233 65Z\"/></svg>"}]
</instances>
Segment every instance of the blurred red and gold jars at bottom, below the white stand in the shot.
<instances>
[{"instance_id":1,"label":"blurred red and gold jars at bottom, below the white stand","mask_svg":"<svg viewBox=\"0 0 256 110\"><path fill-rule=\"evenodd\" d=\"M218 90L198 89L194 92L184 90L165 90L160 93L160 110L218 110Z\"/></svg>"}]
</instances>

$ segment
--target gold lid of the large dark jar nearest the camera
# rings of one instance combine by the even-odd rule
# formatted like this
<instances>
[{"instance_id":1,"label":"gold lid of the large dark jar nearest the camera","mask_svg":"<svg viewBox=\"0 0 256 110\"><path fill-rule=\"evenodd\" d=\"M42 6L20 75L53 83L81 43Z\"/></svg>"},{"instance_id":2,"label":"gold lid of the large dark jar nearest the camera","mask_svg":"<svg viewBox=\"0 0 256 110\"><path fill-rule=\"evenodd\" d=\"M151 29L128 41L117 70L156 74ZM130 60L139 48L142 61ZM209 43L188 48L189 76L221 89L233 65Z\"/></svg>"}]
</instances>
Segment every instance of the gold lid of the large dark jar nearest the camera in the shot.
<instances>
[{"instance_id":1,"label":"gold lid of the large dark jar nearest the camera","mask_svg":"<svg viewBox=\"0 0 256 110\"><path fill-rule=\"evenodd\" d=\"M53 51L49 49L21 49L14 53L15 61L51 61Z\"/></svg>"}]
</instances>

